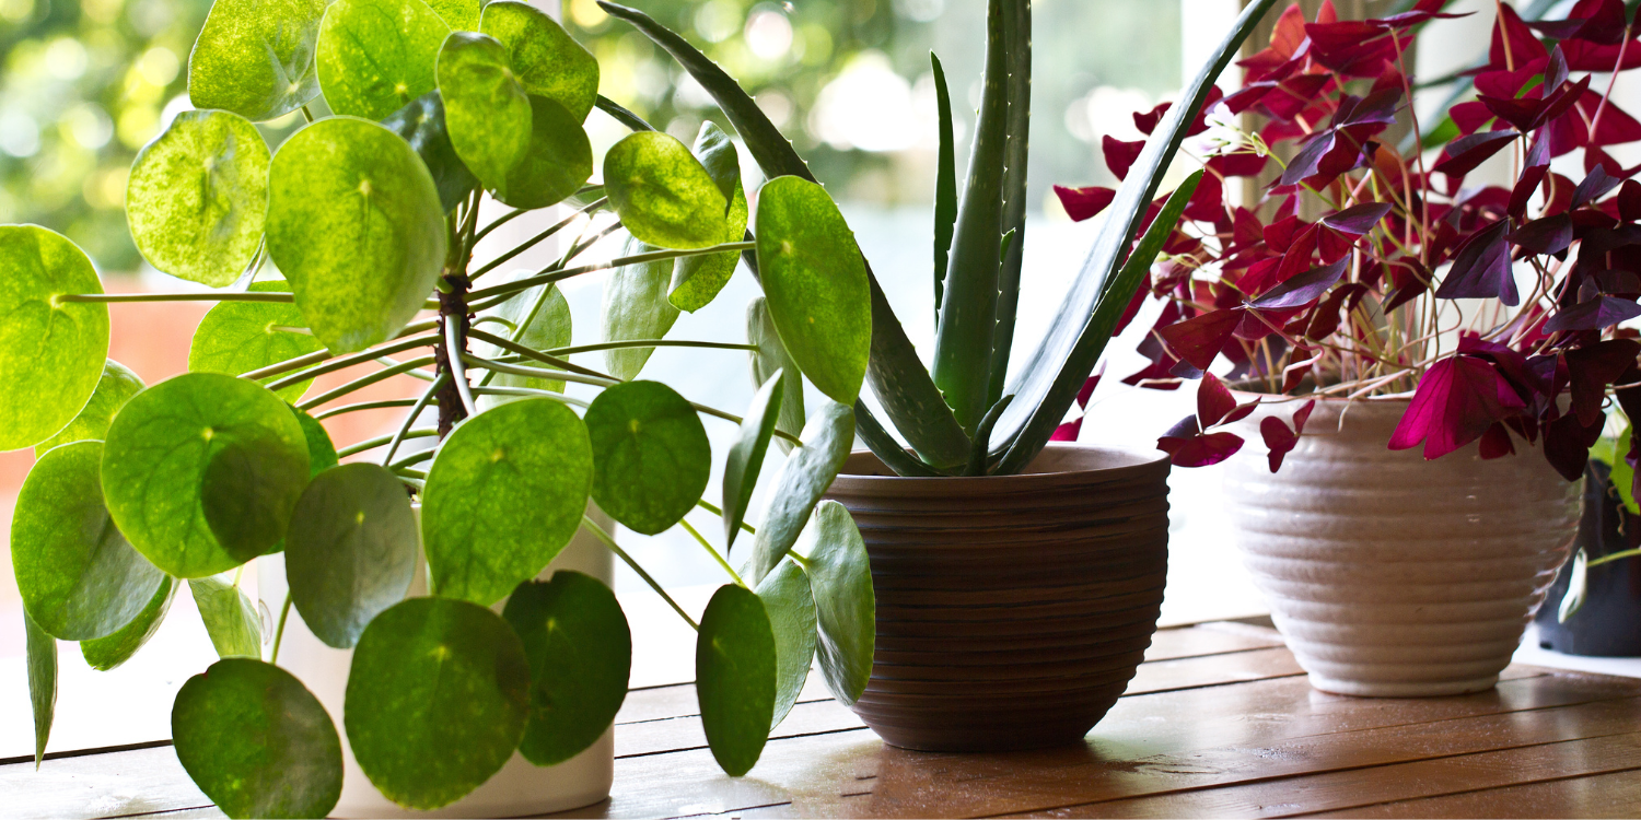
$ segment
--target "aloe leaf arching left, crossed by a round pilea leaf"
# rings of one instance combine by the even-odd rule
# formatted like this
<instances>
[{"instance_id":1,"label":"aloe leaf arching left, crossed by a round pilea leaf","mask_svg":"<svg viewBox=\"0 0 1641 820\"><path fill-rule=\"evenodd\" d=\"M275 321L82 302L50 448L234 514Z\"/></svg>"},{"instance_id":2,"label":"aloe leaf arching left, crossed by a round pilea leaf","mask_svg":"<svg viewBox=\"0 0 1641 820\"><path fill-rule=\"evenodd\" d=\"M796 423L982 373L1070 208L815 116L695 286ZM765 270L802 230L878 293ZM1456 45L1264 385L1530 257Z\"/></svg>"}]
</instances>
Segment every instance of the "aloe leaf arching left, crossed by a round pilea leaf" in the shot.
<instances>
[{"instance_id":1,"label":"aloe leaf arching left, crossed by a round pilea leaf","mask_svg":"<svg viewBox=\"0 0 1641 820\"><path fill-rule=\"evenodd\" d=\"M599 8L632 23L643 36L666 49L717 100L730 125L735 126L735 133L745 141L752 159L763 169L765 177L796 175L809 182L816 180L809 166L793 149L791 141L781 136L781 130L758 108L752 95L706 54L637 8L604 0L599 0ZM871 366L866 377L871 380L873 394L883 403L883 412L896 430L906 436L906 441L924 461L937 467L962 466L968 459L968 436L952 418L952 410L945 405L934 380L929 379L929 371L906 336L906 328L894 317L888 295L871 276L870 264L866 266L866 279L871 285ZM863 433L883 430L881 425L873 423L871 410L865 402L857 402L855 415L863 425L873 428L870 431L863 428ZM888 433L873 435L873 448L884 462L899 464L896 469L901 472L917 471L916 462L907 462L899 444L894 444ZM932 471L924 467L917 472Z\"/></svg>"}]
</instances>

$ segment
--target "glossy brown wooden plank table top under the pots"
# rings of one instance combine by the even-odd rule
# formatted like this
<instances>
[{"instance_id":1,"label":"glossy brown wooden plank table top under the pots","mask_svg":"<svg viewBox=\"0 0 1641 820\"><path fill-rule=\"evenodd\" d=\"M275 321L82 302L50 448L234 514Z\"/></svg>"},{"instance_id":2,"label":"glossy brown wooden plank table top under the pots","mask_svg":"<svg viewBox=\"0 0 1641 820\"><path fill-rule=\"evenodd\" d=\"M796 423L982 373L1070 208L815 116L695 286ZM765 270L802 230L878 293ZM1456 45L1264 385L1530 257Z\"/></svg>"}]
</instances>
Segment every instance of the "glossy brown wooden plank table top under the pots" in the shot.
<instances>
[{"instance_id":1,"label":"glossy brown wooden plank table top under the pots","mask_svg":"<svg viewBox=\"0 0 1641 820\"><path fill-rule=\"evenodd\" d=\"M745 777L689 684L635 689L615 754L610 800L565 817L1638 817L1641 681L1511 666L1475 695L1337 697L1273 630L1204 623L1157 633L1083 746L884 746L812 677ZM0 817L220 817L169 745L7 763L0 795Z\"/></svg>"}]
</instances>

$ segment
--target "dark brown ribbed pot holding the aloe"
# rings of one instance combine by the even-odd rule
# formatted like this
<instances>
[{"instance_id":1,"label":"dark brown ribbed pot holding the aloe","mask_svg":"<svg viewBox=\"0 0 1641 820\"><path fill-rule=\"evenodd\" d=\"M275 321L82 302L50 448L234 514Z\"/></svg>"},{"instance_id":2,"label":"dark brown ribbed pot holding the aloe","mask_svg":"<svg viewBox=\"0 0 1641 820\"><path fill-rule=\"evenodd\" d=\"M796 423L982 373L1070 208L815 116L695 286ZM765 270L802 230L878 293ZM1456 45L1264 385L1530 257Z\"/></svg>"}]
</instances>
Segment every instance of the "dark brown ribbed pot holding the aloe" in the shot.
<instances>
[{"instance_id":1,"label":"dark brown ribbed pot holding the aloe","mask_svg":"<svg viewBox=\"0 0 1641 820\"><path fill-rule=\"evenodd\" d=\"M906 479L870 451L827 499L855 517L878 599L855 713L888 743L1080 743L1134 677L1168 571L1168 459L1052 443L1021 476Z\"/></svg>"}]
</instances>

